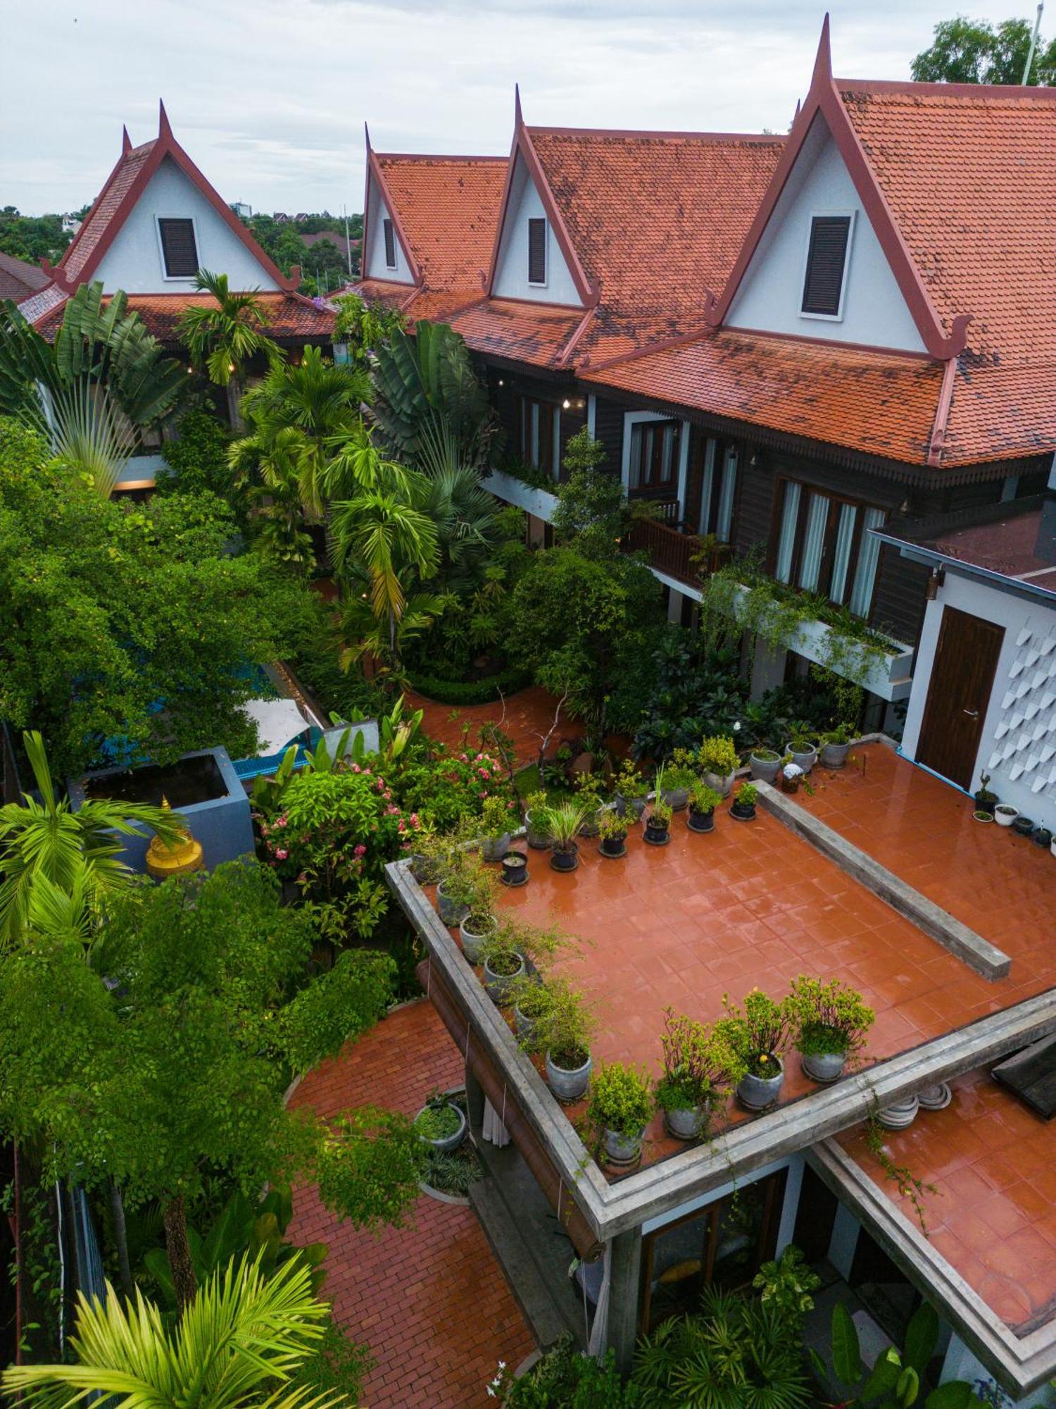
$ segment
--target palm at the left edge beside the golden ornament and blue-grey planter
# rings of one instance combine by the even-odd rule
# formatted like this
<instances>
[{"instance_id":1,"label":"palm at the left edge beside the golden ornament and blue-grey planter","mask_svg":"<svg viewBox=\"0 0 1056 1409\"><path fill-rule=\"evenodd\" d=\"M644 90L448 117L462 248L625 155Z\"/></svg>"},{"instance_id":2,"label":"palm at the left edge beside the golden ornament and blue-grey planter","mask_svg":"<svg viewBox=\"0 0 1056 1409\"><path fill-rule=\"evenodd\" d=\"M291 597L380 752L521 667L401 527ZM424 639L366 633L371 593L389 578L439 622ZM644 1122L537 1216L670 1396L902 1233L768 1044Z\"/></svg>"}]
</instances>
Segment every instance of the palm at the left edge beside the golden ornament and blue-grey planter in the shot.
<instances>
[{"instance_id":1,"label":"palm at the left edge beside the golden ornament and blue-grey planter","mask_svg":"<svg viewBox=\"0 0 1056 1409\"><path fill-rule=\"evenodd\" d=\"M41 735L31 730L23 743L41 802L27 793L21 803L0 807L0 945L17 944L27 924L39 924L38 916L59 913L55 889L76 902L66 917L76 926L107 895L127 886L132 871L117 859L121 843L114 833L138 837L146 826L163 841L183 836L177 813L149 803L100 797L73 812L65 797L55 796Z\"/></svg>"}]
</instances>

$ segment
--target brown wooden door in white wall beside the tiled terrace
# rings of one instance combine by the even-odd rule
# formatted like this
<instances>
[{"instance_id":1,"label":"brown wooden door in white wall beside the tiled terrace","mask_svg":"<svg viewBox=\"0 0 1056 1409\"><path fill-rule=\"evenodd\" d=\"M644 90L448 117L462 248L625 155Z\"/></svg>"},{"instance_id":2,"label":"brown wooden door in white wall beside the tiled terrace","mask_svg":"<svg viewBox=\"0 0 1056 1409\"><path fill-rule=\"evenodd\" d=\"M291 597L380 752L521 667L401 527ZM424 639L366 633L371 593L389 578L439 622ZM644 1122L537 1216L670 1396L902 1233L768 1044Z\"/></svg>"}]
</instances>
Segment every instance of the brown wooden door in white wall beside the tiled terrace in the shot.
<instances>
[{"instance_id":1,"label":"brown wooden door in white wall beside the tiled terrace","mask_svg":"<svg viewBox=\"0 0 1056 1409\"><path fill-rule=\"evenodd\" d=\"M1005 628L945 607L917 762L972 790L979 740Z\"/></svg>"}]
</instances>

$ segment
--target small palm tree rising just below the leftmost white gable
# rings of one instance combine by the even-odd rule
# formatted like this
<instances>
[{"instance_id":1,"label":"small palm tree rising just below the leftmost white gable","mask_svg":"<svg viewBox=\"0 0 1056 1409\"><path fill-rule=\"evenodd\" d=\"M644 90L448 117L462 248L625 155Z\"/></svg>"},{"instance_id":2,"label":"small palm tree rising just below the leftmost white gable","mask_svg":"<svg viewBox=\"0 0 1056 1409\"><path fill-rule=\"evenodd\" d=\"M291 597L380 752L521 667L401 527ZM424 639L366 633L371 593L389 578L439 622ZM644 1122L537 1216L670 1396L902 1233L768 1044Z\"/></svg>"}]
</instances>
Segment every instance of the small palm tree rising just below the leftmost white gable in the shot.
<instances>
[{"instance_id":1,"label":"small palm tree rising just below the leftmost white gable","mask_svg":"<svg viewBox=\"0 0 1056 1409\"><path fill-rule=\"evenodd\" d=\"M191 362L206 368L210 382L227 387L231 424L241 428L239 400L245 362L263 352L273 366L282 354L263 331L268 327L268 311L256 297L256 289L231 293L227 275L210 273L208 269L199 269L194 287L200 293L211 293L215 304L191 304L184 309L176 331L190 352Z\"/></svg>"}]
</instances>

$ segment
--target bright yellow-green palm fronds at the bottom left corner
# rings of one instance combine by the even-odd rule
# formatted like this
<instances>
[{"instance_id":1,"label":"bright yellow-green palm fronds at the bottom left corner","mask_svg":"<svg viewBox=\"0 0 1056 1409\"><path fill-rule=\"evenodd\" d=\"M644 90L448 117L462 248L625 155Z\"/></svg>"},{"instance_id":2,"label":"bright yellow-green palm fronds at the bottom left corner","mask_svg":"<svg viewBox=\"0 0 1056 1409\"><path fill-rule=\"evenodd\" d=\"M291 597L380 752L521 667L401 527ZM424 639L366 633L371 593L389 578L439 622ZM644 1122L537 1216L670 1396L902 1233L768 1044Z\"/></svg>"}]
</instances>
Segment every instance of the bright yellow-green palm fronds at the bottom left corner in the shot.
<instances>
[{"instance_id":1,"label":"bright yellow-green palm fronds at the bottom left corner","mask_svg":"<svg viewBox=\"0 0 1056 1409\"><path fill-rule=\"evenodd\" d=\"M101 1396L113 1409L337 1409L339 1392L294 1384L324 1334L329 1308L301 1258L268 1279L256 1262L228 1262L200 1289L176 1329L137 1289L121 1301L77 1293L68 1365L13 1365L3 1388L39 1409L75 1409Z\"/></svg>"}]
</instances>

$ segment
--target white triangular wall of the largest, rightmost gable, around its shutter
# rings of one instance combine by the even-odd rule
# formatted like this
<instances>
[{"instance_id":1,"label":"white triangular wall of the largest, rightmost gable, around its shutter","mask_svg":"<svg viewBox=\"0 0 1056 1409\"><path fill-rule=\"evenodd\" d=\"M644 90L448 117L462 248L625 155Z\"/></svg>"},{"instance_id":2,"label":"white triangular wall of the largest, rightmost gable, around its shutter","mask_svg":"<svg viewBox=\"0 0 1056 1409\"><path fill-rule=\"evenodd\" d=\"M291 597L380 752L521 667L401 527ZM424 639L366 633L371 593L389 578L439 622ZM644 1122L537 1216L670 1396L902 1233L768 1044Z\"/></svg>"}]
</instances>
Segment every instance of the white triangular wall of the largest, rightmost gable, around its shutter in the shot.
<instances>
[{"instance_id":1,"label":"white triangular wall of the largest, rightmost gable, around its shutter","mask_svg":"<svg viewBox=\"0 0 1056 1409\"><path fill-rule=\"evenodd\" d=\"M815 216L850 216L838 317L803 313L807 247ZM725 327L832 342L926 351L850 172L821 113L800 149L745 271Z\"/></svg>"}]
</instances>

